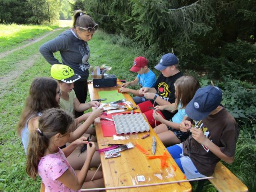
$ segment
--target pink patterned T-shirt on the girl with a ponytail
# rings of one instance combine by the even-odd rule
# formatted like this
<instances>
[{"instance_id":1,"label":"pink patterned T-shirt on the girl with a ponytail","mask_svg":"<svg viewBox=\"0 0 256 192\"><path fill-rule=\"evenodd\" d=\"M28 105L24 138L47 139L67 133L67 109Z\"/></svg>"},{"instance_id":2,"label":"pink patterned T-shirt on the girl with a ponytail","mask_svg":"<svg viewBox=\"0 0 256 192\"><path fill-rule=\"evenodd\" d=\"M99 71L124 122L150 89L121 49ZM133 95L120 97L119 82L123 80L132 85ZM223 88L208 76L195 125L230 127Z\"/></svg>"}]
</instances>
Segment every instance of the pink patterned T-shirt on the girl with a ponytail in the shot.
<instances>
[{"instance_id":1,"label":"pink patterned T-shirt on the girl with a ponytail","mask_svg":"<svg viewBox=\"0 0 256 192\"><path fill-rule=\"evenodd\" d=\"M67 186L64 186L58 177L64 174L67 169L76 175L74 169L67 162L67 159L61 151L58 149L57 153L48 154L41 158L38 164L38 175L42 178L45 185L46 192L80 192L81 190L75 191Z\"/></svg>"}]
</instances>

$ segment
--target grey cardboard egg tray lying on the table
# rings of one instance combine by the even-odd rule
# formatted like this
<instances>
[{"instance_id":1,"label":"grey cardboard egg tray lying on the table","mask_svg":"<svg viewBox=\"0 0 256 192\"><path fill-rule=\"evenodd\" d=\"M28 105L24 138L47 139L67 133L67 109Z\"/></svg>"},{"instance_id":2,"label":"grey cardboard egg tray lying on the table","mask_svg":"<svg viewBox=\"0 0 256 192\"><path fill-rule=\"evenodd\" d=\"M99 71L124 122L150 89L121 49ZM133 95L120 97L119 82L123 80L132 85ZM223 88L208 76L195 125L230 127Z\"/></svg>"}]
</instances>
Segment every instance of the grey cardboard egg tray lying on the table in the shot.
<instances>
[{"instance_id":1,"label":"grey cardboard egg tray lying on the table","mask_svg":"<svg viewBox=\"0 0 256 192\"><path fill-rule=\"evenodd\" d=\"M149 131L149 125L145 121L142 113L113 115L112 118L117 134Z\"/></svg>"}]
</instances>

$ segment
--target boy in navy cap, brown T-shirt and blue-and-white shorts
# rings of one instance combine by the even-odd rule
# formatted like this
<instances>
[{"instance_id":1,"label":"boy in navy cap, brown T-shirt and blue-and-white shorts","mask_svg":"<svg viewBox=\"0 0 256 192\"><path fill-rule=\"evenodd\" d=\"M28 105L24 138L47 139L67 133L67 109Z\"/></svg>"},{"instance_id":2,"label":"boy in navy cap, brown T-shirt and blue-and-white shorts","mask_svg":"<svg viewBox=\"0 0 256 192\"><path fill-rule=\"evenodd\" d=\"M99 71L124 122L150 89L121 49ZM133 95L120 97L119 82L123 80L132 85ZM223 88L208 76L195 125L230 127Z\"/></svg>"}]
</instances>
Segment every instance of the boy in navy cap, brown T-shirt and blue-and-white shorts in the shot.
<instances>
[{"instance_id":1,"label":"boy in navy cap, brown T-shirt and blue-and-white shorts","mask_svg":"<svg viewBox=\"0 0 256 192\"><path fill-rule=\"evenodd\" d=\"M221 98L218 87L198 89L185 109L191 120L180 124L180 131L190 132L189 138L167 148L188 179L212 175L219 160L234 160L239 129L220 105Z\"/></svg>"}]
</instances>

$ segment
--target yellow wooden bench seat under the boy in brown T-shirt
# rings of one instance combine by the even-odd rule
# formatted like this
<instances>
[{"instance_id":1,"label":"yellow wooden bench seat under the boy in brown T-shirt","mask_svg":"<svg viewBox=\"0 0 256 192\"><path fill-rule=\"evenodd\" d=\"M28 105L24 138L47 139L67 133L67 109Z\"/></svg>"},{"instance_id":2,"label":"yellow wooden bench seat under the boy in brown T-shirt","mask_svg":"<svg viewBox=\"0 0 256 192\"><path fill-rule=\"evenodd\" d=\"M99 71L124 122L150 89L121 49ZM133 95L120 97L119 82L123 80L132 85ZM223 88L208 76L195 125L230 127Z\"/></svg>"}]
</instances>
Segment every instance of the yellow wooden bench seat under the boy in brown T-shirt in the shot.
<instances>
[{"instance_id":1,"label":"yellow wooden bench seat under the boy in brown T-shirt","mask_svg":"<svg viewBox=\"0 0 256 192\"><path fill-rule=\"evenodd\" d=\"M247 192L248 188L239 180L227 167L218 162L213 178L209 182L218 190L218 192ZM199 180L196 191L201 192L205 180Z\"/></svg>"}]
</instances>

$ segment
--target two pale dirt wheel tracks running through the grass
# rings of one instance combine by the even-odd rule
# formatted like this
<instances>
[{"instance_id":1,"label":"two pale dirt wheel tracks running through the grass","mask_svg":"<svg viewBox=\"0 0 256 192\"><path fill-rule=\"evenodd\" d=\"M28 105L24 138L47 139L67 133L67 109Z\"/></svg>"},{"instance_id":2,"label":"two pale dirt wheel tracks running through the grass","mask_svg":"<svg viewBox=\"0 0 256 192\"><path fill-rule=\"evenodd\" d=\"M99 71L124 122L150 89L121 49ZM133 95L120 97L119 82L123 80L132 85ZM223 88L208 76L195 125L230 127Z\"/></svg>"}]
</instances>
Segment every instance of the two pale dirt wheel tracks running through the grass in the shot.
<instances>
[{"instance_id":1,"label":"two pale dirt wheel tracks running through the grass","mask_svg":"<svg viewBox=\"0 0 256 192\"><path fill-rule=\"evenodd\" d=\"M0 59L11 54L12 52L23 49L24 47L28 47L29 45L35 44L36 42L41 41L42 39L46 38L48 35L51 35L54 31L61 30L61 29L62 28L55 29L55 30L47 33L46 35L43 35L35 40L29 40L29 43L27 43L23 46L16 47L15 49L9 50L7 52L0 53ZM0 82L1 82L0 83L0 90L1 90L0 98L6 93L6 87L10 87L13 84L15 84L15 81L13 81L13 80L17 79L20 75L22 75L23 72L26 69L28 69L29 67L31 67L34 64L34 62L36 61L36 59L39 58L40 56L41 55L39 52L38 52L38 54L32 55L29 59L21 61L19 63L18 71L17 70L11 71L11 72L7 73L6 75L0 77Z\"/></svg>"}]
</instances>

